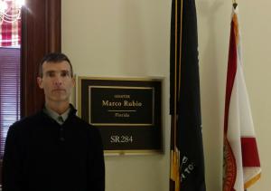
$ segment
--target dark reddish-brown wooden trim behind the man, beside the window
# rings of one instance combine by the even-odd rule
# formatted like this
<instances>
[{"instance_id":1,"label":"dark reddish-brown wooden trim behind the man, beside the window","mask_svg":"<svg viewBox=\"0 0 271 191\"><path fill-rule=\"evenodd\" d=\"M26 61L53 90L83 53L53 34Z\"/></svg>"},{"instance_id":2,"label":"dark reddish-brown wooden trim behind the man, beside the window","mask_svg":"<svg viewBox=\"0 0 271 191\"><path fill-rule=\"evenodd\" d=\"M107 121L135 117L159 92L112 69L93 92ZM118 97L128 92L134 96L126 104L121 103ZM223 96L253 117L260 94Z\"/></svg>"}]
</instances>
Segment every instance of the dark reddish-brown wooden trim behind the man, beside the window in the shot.
<instances>
[{"instance_id":1,"label":"dark reddish-brown wooden trim behind the man, beside the window","mask_svg":"<svg viewBox=\"0 0 271 191\"><path fill-rule=\"evenodd\" d=\"M22 10L22 117L41 110L38 65L46 53L61 52L61 0L26 0Z\"/></svg>"}]
</instances>

